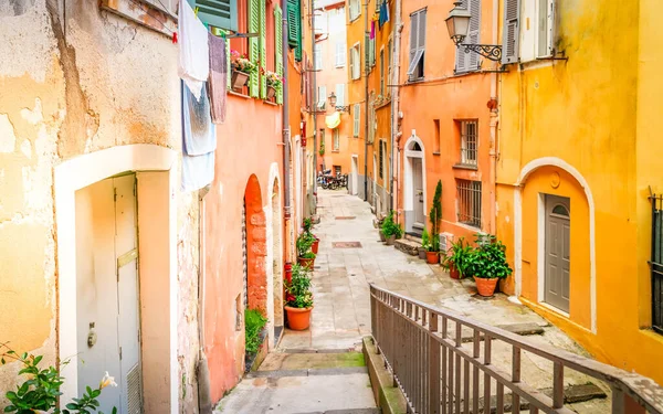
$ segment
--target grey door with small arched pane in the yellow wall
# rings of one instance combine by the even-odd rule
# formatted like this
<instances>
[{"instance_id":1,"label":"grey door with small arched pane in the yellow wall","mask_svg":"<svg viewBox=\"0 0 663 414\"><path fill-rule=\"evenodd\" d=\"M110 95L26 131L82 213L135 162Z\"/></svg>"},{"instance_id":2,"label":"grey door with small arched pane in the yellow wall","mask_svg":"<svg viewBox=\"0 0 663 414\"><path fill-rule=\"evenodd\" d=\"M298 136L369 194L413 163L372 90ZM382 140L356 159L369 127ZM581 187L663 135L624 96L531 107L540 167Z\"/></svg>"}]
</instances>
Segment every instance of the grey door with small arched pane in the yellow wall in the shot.
<instances>
[{"instance_id":1,"label":"grey door with small arched pane in the yellow wall","mask_svg":"<svg viewBox=\"0 0 663 414\"><path fill-rule=\"evenodd\" d=\"M570 295L570 202L546 195L546 286L545 301L566 312Z\"/></svg>"}]
</instances>

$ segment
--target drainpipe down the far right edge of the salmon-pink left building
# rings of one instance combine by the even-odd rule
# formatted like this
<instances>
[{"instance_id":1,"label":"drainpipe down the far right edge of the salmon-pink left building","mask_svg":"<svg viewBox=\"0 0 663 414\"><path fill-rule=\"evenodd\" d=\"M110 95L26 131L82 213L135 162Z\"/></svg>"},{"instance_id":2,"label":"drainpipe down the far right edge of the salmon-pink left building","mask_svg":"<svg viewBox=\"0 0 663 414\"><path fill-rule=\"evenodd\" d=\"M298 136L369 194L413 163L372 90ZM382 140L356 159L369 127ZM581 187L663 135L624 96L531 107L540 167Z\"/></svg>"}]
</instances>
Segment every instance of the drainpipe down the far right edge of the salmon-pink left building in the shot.
<instances>
[{"instance_id":1,"label":"drainpipe down the far right edge of the salmon-pink left building","mask_svg":"<svg viewBox=\"0 0 663 414\"><path fill-rule=\"evenodd\" d=\"M290 47L287 46L287 0L282 0L281 2L281 25L282 25L282 30L281 33L282 39L281 39L281 44L282 44L282 51L281 51L281 60L283 61L283 87L281 88L282 94L283 94L283 106L281 107L281 116L282 116L282 123L283 123L283 222L284 222L284 227L285 227L285 234L286 237L288 240L287 243L285 243L285 264L290 264L291 261L291 242L292 240L290 240L288 235L290 233L290 225L291 225L291 204L290 204L290 199L291 199L291 171L290 171L290 152L291 152L291 130L290 130L290 103L288 103L288 88L290 88L290 84L288 84L288 78L287 78L287 51L290 50Z\"/></svg>"}]
</instances>

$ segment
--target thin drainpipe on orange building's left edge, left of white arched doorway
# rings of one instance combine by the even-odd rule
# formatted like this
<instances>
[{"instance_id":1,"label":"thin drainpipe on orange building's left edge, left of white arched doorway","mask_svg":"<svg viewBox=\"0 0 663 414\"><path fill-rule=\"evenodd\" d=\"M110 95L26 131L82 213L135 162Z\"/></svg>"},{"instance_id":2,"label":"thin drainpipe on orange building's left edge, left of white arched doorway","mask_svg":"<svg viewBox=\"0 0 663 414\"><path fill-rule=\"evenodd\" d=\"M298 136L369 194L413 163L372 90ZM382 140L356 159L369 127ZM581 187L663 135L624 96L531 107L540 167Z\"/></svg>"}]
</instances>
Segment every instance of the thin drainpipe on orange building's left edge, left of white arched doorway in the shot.
<instances>
[{"instance_id":1,"label":"thin drainpipe on orange building's left edge, left of white arched doorway","mask_svg":"<svg viewBox=\"0 0 663 414\"><path fill-rule=\"evenodd\" d=\"M398 84L400 79L400 42L401 31L403 23L401 22L401 0L396 0L394 12L393 12L393 53L391 63L393 71L391 71L391 162L394 160L398 171L396 173L392 170L392 174L396 177L391 178L391 210L398 210L398 191L399 191L399 178L400 178L400 128L399 128L399 103L400 103L400 86ZM396 181L397 190L393 191L393 181ZM394 209L396 206L396 209Z\"/></svg>"}]
</instances>

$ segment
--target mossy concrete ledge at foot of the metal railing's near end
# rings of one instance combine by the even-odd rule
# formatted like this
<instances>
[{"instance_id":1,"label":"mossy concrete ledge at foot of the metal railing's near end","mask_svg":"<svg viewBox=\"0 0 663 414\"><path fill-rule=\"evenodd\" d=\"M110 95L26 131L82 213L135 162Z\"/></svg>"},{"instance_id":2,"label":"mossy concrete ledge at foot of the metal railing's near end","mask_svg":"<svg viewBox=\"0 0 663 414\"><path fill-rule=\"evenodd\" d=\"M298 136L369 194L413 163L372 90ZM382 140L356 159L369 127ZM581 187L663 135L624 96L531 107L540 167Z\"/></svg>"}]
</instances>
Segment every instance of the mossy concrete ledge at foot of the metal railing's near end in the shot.
<instances>
[{"instance_id":1,"label":"mossy concrete ledge at foot of the metal railing's near end","mask_svg":"<svg viewBox=\"0 0 663 414\"><path fill-rule=\"evenodd\" d=\"M382 414L404 414L407 408L406 396L399 388L393 386L393 378L385 368L385 361L378 353L372 337L362 340L364 358L368 367L370 386L378 407Z\"/></svg>"}]
</instances>

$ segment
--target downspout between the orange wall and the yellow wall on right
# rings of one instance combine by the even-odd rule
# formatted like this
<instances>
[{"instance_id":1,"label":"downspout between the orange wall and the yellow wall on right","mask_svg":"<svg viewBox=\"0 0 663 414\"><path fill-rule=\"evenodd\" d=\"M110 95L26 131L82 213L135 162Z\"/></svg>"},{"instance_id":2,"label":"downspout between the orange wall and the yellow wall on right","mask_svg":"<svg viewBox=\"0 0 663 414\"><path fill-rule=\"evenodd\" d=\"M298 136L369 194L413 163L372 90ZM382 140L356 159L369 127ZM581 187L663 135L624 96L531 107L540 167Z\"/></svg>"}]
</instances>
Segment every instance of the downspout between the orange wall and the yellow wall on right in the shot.
<instances>
[{"instance_id":1,"label":"downspout between the orange wall and the yellow wall on right","mask_svg":"<svg viewBox=\"0 0 663 414\"><path fill-rule=\"evenodd\" d=\"M498 38L498 17L499 17L499 0L493 0L493 42L492 44L499 44L497 42ZM497 73L493 72L491 74L491 100L488 102L488 108L491 110L491 146L490 146L490 214L491 220L488 221L488 232L491 234L495 234L496 226L496 214L497 214L497 205L496 205L496 176L497 176L497 125L499 121L499 113L497 109Z\"/></svg>"}]
</instances>

